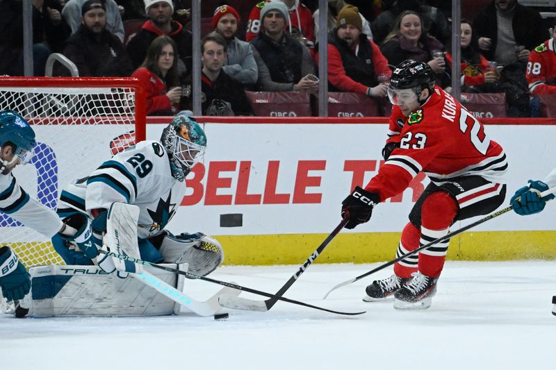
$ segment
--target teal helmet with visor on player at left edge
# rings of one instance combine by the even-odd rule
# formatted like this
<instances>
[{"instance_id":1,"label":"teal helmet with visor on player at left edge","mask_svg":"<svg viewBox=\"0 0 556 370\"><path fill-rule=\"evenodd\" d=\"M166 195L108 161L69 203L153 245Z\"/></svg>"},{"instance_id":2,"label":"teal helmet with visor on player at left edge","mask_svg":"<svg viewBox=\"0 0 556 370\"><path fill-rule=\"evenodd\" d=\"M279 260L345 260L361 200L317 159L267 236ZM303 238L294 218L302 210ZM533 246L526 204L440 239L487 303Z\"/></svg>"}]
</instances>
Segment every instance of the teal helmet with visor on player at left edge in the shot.
<instances>
[{"instance_id":1,"label":"teal helmet with visor on player at left edge","mask_svg":"<svg viewBox=\"0 0 556 370\"><path fill-rule=\"evenodd\" d=\"M19 158L24 165L33 157L35 146L35 131L28 122L13 110L0 112L0 147L6 144L15 146L14 157L10 162L0 160L0 171L11 165Z\"/></svg>"}]
</instances>

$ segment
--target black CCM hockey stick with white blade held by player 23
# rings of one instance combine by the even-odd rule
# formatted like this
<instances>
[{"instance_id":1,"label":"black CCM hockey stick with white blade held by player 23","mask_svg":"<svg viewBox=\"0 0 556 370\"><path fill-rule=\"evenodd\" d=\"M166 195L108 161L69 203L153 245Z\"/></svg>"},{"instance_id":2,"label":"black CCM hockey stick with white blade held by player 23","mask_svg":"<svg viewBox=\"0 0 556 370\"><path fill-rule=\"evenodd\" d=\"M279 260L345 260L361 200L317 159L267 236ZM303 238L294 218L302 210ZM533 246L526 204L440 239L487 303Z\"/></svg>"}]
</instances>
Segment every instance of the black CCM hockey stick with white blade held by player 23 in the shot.
<instances>
[{"instance_id":1,"label":"black CCM hockey stick with white blade held by player 23","mask_svg":"<svg viewBox=\"0 0 556 370\"><path fill-rule=\"evenodd\" d=\"M330 235L328 235L325 241L322 242L320 246L318 246L316 251L314 251L311 255L309 255L309 258L307 258L307 260L300 266L300 268L295 272L295 274L293 274L293 276L291 276L291 278L288 281L286 281L286 284L284 284L284 286L282 286L278 290L278 292L276 292L275 296L273 296L272 298L268 298L265 301L254 301L252 299L222 294L222 296L220 296L218 301L224 307L234 308L235 310L248 310L248 311L261 311L261 312L270 310L270 308L272 308L272 306L277 303L279 297L284 295L286 290L288 290L293 285L293 283L297 281L297 278L299 278L301 274L305 272L307 267L309 267L309 265L317 259L320 253L324 251L326 246L330 242L332 242L332 239L334 239L334 237L338 235L338 233L343 229L345 224L347 224L347 221L349 221L349 219L343 219L340 222L340 224L336 226L336 228L332 231L332 233L330 233Z\"/></svg>"}]
</instances>

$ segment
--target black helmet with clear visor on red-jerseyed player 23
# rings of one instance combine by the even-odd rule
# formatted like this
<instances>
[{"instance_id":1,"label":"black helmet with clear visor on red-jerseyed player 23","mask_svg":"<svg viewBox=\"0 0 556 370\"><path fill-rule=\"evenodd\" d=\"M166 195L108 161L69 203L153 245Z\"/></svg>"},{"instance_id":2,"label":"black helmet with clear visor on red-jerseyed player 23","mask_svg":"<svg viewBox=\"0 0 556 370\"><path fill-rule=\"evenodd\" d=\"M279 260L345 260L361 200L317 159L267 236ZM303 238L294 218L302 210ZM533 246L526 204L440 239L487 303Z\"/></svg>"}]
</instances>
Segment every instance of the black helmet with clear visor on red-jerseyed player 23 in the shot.
<instances>
[{"instance_id":1,"label":"black helmet with clear visor on red-jerseyed player 23","mask_svg":"<svg viewBox=\"0 0 556 370\"><path fill-rule=\"evenodd\" d=\"M395 67L388 86L388 97L395 106L403 106L416 101L419 106L425 101L420 100L423 90L434 90L436 77L430 65L416 60L404 60Z\"/></svg>"}]
</instances>

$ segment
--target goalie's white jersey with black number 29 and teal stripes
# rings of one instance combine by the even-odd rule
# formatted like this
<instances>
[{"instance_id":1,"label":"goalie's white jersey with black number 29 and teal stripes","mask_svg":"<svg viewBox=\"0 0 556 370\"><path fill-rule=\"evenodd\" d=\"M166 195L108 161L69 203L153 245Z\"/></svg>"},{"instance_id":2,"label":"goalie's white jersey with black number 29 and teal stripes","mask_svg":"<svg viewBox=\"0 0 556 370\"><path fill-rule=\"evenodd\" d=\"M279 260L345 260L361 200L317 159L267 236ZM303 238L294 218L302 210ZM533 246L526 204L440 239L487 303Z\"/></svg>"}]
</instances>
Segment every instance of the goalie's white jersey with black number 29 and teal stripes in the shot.
<instances>
[{"instance_id":1,"label":"goalie's white jersey with black number 29 and teal stripes","mask_svg":"<svg viewBox=\"0 0 556 370\"><path fill-rule=\"evenodd\" d=\"M114 202L140 208L138 237L160 233L172 219L186 192L176 180L162 144L155 140L140 142L104 162L88 178L74 180L60 194L58 215L79 210L108 210Z\"/></svg>"}]
</instances>

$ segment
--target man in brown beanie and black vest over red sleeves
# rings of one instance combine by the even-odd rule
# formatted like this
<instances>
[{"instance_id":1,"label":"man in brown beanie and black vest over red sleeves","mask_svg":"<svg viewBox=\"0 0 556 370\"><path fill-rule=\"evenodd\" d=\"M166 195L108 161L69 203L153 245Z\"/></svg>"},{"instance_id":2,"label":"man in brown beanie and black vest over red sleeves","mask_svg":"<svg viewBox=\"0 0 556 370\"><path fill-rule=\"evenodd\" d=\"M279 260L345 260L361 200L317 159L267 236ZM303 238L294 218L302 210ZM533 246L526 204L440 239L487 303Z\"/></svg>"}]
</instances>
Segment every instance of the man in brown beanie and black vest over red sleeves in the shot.
<instances>
[{"instance_id":1,"label":"man in brown beanie and black vest over red sleeves","mask_svg":"<svg viewBox=\"0 0 556 370\"><path fill-rule=\"evenodd\" d=\"M328 35L329 91L383 98L391 70L379 47L361 33L362 27L357 7L346 5L338 12L336 28Z\"/></svg>"}]
</instances>

